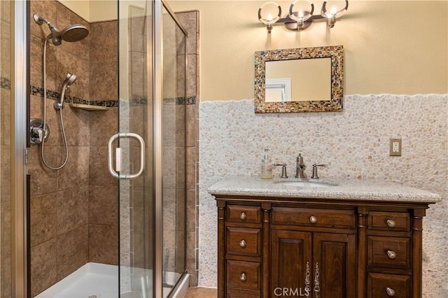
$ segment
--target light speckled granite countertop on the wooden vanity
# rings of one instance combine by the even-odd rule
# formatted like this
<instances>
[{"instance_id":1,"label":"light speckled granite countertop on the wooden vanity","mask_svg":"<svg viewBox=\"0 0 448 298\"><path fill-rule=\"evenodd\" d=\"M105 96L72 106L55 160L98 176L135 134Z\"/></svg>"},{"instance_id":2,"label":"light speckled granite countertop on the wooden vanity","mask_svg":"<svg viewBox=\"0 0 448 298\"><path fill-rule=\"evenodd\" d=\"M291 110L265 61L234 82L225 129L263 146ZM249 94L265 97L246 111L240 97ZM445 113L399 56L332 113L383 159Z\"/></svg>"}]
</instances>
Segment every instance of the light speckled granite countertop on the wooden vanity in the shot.
<instances>
[{"instance_id":1,"label":"light speckled granite countertop on the wooden vanity","mask_svg":"<svg viewBox=\"0 0 448 298\"><path fill-rule=\"evenodd\" d=\"M257 197L297 197L316 199L346 199L363 201L407 201L436 203L438 194L381 179L318 179L330 183L328 187L296 187L279 183L297 181L297 178L262 179L258 176L228 176L211 185L210 194ZM311 180L312 181L312 180Z\"/></svg>"}]
</instances>

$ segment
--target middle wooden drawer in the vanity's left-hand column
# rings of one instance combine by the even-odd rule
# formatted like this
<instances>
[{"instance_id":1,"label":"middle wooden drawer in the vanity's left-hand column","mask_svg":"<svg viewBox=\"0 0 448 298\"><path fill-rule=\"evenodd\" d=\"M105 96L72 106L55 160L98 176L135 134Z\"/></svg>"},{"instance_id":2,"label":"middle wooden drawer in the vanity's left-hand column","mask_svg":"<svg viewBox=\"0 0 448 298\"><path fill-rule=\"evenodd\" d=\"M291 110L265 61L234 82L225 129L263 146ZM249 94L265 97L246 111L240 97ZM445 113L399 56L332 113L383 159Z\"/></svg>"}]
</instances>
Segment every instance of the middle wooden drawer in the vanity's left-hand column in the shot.
<instances>
[{"instance_id":1,"label":"middle wooden drawer in the vanity's left-hand column","mask_svg":"<svg viewBox=\"0 0 448 298\"><path fill-rule=\"evenodd\" d=\"M261 230L227 227L227 253L230 255L261 256Z\"/></svg>"}]
</instances>

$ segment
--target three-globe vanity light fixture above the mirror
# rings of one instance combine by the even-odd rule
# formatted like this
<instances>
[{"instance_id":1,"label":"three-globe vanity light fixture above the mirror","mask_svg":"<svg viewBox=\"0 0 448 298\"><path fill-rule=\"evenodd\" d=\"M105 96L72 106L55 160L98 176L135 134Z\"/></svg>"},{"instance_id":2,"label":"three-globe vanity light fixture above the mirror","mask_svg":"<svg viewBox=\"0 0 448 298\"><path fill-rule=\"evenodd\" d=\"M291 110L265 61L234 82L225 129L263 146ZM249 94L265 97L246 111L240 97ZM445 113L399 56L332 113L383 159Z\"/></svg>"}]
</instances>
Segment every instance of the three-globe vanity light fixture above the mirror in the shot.
<instances>
[{"instance_id":1,"label":"three-globe vanity light fixture above the mirror","mask_svg":"<svg viewBox=\"0 0 448 298\"><path fill-rule=\"evenodd\" d=\"M337 5L339 2L339 5ZM344 6L340 5L345 3ZM328 6L329 9L328 9ZM272 17L272 9L276 7L278 15ZM313 21L326 20L328 27L335 27L335 22L338 17L343 15L349 8L349 1L323 1L321 14L313 15L314 4L310 0L296 0L291 3L289 7L289 13L286 17L281 17L281 6L275 2L266 2L260 8L258 8L258 20L263 24L266 24L267 32L271 33L274 24L283 24L286 29L291 31L301 31L307 29ZM262 10L268 10L266 17L262 17Z\"/></svg>"}]
</instances>

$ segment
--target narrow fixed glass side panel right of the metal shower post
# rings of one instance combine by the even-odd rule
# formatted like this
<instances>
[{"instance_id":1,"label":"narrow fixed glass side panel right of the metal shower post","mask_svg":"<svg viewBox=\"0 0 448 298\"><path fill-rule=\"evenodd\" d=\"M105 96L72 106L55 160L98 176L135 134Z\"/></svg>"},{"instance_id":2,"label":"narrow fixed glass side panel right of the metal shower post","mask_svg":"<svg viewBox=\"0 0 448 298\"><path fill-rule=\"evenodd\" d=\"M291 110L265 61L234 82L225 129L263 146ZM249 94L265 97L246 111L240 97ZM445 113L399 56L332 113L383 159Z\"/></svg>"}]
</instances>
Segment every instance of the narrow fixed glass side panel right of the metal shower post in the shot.
<instances>
[{"instance_id":1,"label":"narrow fixed glass side panel right of the metal shower post","mask_svg":"<svg viewBox=\"0 0 448 298\"><path fill-rule=\"evenodd\" d=\"M186 35L162 8L163 297L185 271Z\"/></svg>"}]
</instances>

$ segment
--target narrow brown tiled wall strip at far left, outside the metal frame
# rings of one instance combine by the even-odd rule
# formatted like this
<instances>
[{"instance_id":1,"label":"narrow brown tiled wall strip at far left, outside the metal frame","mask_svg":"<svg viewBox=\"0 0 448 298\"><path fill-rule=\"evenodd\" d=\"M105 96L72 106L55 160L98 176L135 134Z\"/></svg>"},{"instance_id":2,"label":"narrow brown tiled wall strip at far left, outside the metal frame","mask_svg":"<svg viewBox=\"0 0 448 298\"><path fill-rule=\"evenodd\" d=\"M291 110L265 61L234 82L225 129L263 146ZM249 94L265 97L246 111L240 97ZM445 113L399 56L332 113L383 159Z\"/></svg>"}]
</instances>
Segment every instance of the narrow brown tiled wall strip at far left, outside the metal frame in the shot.
<instances>
[{"instance_id":1,"label":"narrow brown tiled wall strip at far left, outside the metal frame","mask_svg":"<svg viewBox=\"0 0 448 298\"><path fill-rule=\"evenodd\" d=\"M0 1L0 297L11 295L11 5ZM13 66L13 65L12 65Z\"/></svg>"}]
</instances>

